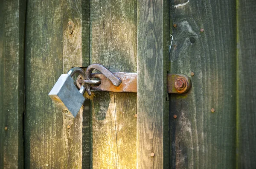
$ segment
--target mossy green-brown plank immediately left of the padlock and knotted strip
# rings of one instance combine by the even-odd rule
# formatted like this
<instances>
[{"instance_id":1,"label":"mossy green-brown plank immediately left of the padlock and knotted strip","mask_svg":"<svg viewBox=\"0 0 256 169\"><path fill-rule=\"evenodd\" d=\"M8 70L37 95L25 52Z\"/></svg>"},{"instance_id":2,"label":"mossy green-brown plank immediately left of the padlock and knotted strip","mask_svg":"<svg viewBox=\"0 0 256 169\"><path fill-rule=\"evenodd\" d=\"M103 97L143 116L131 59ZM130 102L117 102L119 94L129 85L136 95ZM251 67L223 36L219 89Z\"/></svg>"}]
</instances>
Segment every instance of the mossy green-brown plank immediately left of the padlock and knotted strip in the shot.
<instances>
[{"instance_id":1,"label":"mossy green-brown plank immediately left of the padlock and knotted strip","mask_svg":"<svg viewBox=\"0 0 256 169\"><path fill-rule=\"evenodd\" d=\"M61 0L28 0L24 168L68 168L63 115L48 93L62 74Z\"/></svg>"}]
</instances>

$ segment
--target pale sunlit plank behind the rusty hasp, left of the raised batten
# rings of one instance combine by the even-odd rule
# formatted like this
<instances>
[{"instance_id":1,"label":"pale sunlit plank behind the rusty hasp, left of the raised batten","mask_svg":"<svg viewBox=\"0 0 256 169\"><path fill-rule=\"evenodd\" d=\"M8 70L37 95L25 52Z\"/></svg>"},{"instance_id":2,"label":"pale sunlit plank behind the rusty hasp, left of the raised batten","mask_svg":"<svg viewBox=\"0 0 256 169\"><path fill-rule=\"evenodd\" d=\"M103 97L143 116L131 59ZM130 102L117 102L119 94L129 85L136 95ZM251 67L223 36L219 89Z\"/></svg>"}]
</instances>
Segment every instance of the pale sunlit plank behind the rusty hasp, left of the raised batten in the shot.
<instances>
[{"instance_id":1,"label":"pale sunlit plank behind the rusty hasp, left of the raised batten","mask_svg":"<svg viewBox=\"0 0 256 169\"><path fill-rule=\"evenodd\" d=\"M91 0L90 63L137 70L137 1ZM136 168L136 94L92 94L93 168Z\"/></svg>"}]
</instances>

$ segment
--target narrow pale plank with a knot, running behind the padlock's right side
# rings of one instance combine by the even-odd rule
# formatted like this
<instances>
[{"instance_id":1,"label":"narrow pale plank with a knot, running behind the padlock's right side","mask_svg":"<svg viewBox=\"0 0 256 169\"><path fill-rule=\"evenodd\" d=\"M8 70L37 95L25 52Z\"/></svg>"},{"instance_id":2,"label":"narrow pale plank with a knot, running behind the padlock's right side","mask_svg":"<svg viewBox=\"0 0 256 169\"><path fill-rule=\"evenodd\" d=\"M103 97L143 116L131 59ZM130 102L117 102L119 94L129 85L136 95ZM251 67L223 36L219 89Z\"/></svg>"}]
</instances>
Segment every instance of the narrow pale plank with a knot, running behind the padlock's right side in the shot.
<instances>
[{"instance_id":1,"label":"narrow pale plank with a knot, running behind the padlock's right side","mask_svg":"<svg viewBox=\"0 0 256 169\"><path fill-rule=\"evenodd\" d=\"M63 73L67 73L72 67L89 66L90 54L90 16L89 0L65 0L62 4L63 12ZM90 161L90 152L83 152L83 146L90 149L90 123L83 124L83 107L75 119L63 119L64 152L68 168L89 168L90 163L84 163L82 159ZM89 111L87 105L87 111ZM89 111L90 112L90 111ZM61 113L61 112L60 112ZM87 112L84 112L87 115ZM84 117L87 118L87 117ZM90 118L90 116L89 116ZM90 121L89 121L90 122ZM83 126L86 125L85 129ZM70 126L68 128L67 126ZM83 133L83 130L84 131ZM87 144L82 144L82 138L87 138ZM85 143L85 142L84 142ZM82 157L82 155L85 155Z\"/></svg>"}]
</instances>

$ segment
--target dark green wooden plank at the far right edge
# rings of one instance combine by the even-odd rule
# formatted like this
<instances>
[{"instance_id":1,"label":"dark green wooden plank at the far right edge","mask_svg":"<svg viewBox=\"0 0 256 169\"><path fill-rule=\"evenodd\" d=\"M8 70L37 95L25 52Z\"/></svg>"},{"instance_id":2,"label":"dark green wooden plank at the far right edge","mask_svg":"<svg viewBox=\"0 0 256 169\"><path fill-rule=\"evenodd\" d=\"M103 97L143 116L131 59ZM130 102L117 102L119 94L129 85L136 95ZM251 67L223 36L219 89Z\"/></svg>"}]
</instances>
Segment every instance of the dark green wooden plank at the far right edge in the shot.
<instances>
[{"instance_id":1,"label":"dark green wooden plank at the far right edge","mask_svg":"<svg viewBox=\"0 0 256 169\"><path fill-rule=\"evenodd\" d=\"M255 168L256 161L256 5L237 0L237 168Z\"/></svg>"}]
</instances>

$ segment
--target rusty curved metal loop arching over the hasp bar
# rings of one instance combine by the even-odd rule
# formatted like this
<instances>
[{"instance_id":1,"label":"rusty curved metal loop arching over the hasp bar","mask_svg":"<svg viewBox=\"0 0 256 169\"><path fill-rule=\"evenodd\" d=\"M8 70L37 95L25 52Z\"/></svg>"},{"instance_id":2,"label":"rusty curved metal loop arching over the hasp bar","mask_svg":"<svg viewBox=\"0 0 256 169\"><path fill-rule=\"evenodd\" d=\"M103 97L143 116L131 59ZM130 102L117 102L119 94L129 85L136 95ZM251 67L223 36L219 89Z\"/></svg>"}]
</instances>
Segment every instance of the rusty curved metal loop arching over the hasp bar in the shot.
<instances>
[{"instance_id":1,"label":"rusty curved metal loop arching over the hasp bar","mask_svg":"<svg viewBox=\"0 0 256 169\"><path fill-rule=\"evenodd\" d=\"M106 76L115 86L119 86L122 81L119 77L117 77L116 75L114 75L110 70L108 70L107 68L105 68L102 65L99 64L92 64L90 66L88 66L88 68L86 69L85 72L85 80L90 80L91 74L93 72L93 70L99 70L104 76ZM85 84L85 89L88 93L88 95L91 95L90 92L90 85L89 84Z\"/></svg>"}]
</instances>

